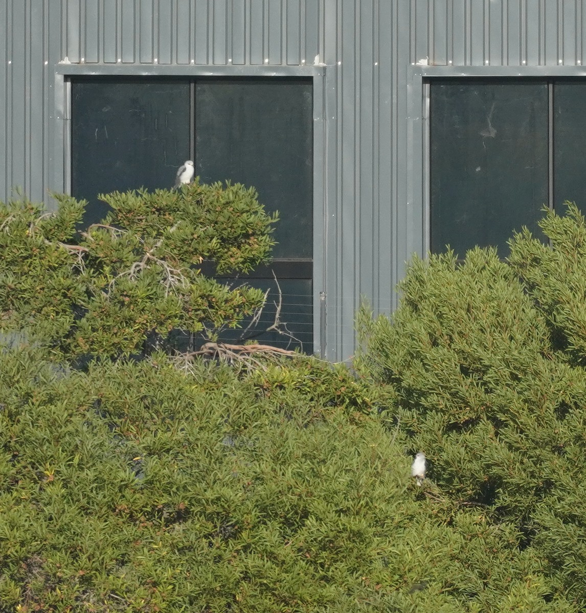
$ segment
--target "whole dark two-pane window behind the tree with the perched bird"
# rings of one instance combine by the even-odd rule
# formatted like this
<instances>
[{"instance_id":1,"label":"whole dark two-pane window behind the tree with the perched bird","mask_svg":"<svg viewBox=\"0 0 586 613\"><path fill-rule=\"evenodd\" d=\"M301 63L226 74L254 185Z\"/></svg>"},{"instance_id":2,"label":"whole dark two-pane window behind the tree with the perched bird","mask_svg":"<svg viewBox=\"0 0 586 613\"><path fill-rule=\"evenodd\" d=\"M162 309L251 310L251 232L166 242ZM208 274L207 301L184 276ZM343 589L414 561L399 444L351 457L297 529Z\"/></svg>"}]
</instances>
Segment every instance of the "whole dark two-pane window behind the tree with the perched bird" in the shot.
<instances>
[{"instance_id":1,"label":"whole dark two-pane window behind the tree with the perched bird","mask_svg":"<svg viewBox=\"0 0 586 613\"><path fill-rule=\"evenodd\" d=\"M255 186L266 209L279 211L275 260L246 280L269 289L260 321L247 337L312 351L312 117L310 79L74 80L72 194L90 201L86 221L99 221L106 205L97 194L171 188L195 143L196 174L203 182L228 179ZM213 267L206 273L213 275ZM267 332L279 300L283 333ZM239 339L242 330L222 335L225 341Z\"/></svg>"}]
</instances>

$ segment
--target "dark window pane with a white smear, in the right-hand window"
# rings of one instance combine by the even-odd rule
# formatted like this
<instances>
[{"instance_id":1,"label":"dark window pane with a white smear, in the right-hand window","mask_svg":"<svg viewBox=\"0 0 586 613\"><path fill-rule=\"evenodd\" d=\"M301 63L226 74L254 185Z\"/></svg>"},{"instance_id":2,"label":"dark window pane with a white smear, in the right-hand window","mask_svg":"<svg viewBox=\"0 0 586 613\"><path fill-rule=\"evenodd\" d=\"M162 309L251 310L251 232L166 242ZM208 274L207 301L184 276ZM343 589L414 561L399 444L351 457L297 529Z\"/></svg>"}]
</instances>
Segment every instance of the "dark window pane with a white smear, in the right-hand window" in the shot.
<instances>
[{"instance_id":1,"label":"dark window pane with a white smear, in the right-hand window","mask_svg":"<svg viewBox=\"0 0 586 613\"><path fill-rule=\"evenodd\" d=\"M547 82L433 82L430 97L431 250L504 257L548 201Z\"/></svg>"}]
</instances>

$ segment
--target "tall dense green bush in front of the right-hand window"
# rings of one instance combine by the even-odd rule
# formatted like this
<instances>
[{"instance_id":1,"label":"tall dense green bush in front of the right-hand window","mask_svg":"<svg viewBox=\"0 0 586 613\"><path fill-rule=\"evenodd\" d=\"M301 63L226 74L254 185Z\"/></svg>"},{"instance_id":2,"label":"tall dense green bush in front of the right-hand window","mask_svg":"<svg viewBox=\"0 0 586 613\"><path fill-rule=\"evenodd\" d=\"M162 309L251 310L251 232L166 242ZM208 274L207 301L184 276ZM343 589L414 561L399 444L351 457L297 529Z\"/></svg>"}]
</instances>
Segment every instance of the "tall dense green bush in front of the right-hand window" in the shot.
<instances>
[{"instance_id":1,"label":"tall dense green bush in front of the right-hand window","mask_svg":"<svg viewBox=\"0 0 586 613\"><path fill-rule=\"evenodd\" d=\"M523 230L509 262L478 248L415 259L392 321L358 314L357 367L441 495L511 530L550 593L582 611L586 224L568 205L541 227L551 245Z\"/></svg>"}]
</instances>

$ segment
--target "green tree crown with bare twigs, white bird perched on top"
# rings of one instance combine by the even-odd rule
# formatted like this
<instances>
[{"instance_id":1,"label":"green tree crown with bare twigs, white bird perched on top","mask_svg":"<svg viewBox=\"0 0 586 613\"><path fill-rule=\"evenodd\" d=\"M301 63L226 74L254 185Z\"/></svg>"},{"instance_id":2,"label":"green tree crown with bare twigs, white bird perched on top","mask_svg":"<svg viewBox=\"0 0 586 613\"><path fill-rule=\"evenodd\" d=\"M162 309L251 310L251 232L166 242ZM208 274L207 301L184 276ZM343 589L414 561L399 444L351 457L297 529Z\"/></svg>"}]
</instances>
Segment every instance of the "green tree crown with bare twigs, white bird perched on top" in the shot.
<instances>
[{"instance_id":1,"label":"green tree crown with bare twigs, white bird perched on top","mask_svg":"<svg viewBox=\"0 0 586 613\"><path fill-rule=\"evenodd\" d=\"M251 287L201 275L250 272L268 260L272 225L254 189L195 181L177 191L140 189L100 196L103 223L77 232L85 202L55 196L47 213L31 202L0 204L0 310L3 331L67 359L145 351L174 329L214 338L263 304Z\"/></svg>"}]
</instances>

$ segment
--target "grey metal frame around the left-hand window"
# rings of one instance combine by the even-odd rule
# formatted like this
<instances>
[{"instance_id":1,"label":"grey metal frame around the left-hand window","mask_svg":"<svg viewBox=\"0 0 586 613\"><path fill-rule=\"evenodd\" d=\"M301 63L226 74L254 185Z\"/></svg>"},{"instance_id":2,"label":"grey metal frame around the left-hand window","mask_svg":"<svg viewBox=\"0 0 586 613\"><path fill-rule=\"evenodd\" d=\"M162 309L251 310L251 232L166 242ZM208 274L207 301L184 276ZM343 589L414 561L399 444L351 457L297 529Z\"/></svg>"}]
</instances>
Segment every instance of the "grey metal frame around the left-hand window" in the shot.
<instances>
[{"instance_id":1,"label":"grey metal frame around the left-hand window","mask_svg":"<svg viewBox=\"0 0 586 613\"><path fill-rule=\"evenodd\" d=\"M317 66L207 66L193 64L57 64L55 67L55 120L53 137L55 156L54 185L63 185L71 193L71 81L75 77L180 77L194 80L191 96L195 96L195 80L201 77L218 78L311 78L313 89L313 352L322 358L328 353L326 346L326 88L327 67ZM191 118L195 121L195 118ZM193 133L193 131L192 131ZM191 136L191 151L195 140Z\"/></svg>"}]
</instances>

